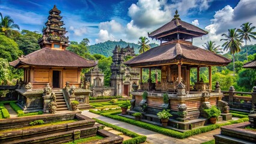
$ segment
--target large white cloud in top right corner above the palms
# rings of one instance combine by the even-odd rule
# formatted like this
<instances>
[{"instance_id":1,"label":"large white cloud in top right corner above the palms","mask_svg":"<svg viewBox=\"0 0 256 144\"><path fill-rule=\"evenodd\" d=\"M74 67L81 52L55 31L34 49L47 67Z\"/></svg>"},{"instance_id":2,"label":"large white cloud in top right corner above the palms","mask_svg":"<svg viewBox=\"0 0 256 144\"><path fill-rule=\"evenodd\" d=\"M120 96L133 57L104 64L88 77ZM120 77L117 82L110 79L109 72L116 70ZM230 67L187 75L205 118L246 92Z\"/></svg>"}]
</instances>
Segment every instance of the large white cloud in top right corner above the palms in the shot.
<instances>
[{"instance_id":1,"label":"large white cloud in top right corner above the palms","mask_svg":"<svg viewBox=\"0 0 256 144\"><path fill-rule=\"evenodd\" d=\"M225 6L219 11L216 11L211 20L211 24L206 26L206 30L209 34L203 37L203 40L199 38L194 40L194 44L200 46L209 40L215 41L217 45L222 45L224 41L221 40L222 34L227 34L228 29L240 28L243 23L249 22L254 26L256 25L256 2L249 0L241 0L236 7L232 8L230 5ZM254 13L252 13L254 11ZM203 42L202 42L203 41ZM255 43L252 40L251 43ZM250 44L250 43L248 43Z\"/></svg>"}]
</instances>

